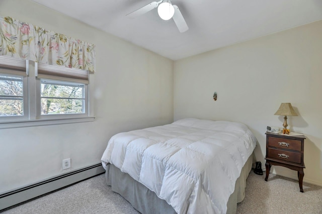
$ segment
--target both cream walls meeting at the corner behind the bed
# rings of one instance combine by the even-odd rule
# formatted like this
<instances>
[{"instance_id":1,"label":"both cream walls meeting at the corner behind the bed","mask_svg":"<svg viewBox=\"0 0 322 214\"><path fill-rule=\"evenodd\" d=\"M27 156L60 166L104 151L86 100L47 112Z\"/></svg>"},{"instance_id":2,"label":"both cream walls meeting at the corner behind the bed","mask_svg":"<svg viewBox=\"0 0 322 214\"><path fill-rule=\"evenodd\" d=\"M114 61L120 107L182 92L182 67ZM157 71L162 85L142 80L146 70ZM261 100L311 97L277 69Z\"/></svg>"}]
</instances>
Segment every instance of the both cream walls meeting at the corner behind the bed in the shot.
<instances>
[{"instance_id":1,"label":"both cream walls meeting at the corner behind the bed","mask_svg":"<svg viewBox=\"0 0 322 214\"><path fill-rule=\"evenodd\" d=\"M177 61L174 80L173 61L30 0L1 0L0 16L96 44L98 70L94 122L0 129L0 192L68 172L61 169L68 157L70 170L99 163L113 134L173 118L244 122L264 162L264 133L267 125L283 123L274 115L281 102L299 114L289 118L291 130L307 137L304 181L322 185L322 22ZM274 170L296 178L292 170Z\"/></svg>"}]
</instances>

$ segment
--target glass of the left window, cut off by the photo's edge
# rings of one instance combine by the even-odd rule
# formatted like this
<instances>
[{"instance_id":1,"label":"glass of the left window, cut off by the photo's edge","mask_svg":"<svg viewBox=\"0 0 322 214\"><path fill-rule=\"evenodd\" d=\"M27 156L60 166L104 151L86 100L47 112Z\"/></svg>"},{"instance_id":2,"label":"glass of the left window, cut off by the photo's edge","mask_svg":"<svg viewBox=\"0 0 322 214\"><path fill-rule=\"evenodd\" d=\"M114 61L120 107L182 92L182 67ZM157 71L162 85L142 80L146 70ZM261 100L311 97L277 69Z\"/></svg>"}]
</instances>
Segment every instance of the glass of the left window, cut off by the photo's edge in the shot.
<instances>
[{"instance_id":1,"label":"glass of the left window, cut off by the photo's edge","mask_svg":"<svg viewBox=\"0 0 322 214\"><path fill-rule=\"evenodd\" d=\"M24 115L23 77L0 75L0 116Z\"/></svg>"}]
</instances>

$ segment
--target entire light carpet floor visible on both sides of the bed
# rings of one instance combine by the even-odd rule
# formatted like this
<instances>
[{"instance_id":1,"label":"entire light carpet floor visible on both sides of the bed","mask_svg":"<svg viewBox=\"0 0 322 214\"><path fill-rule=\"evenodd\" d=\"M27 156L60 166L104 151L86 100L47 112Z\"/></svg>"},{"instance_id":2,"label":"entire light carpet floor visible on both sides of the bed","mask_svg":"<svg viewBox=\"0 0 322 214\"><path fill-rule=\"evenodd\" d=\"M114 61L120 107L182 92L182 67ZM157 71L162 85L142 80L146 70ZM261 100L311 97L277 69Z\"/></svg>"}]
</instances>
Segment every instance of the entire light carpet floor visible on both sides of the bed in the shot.
<instances>
[{"instance_id":1,"label":"entire light carpet floor visible on both sides of the bed","mask_svg":"<svg viewBox=\"0 0 322 214\"><path fill-rule=\"evenodd\" d=\"M237 204L238 214L249 213L309 213L322 214L322 187L270 174L251 171L247 179L246 197ZM57 192L16 206L4 214L24 213L139 213L119 194L105 184L105 175L99 175Z\"/></svg>"}]
</instances>

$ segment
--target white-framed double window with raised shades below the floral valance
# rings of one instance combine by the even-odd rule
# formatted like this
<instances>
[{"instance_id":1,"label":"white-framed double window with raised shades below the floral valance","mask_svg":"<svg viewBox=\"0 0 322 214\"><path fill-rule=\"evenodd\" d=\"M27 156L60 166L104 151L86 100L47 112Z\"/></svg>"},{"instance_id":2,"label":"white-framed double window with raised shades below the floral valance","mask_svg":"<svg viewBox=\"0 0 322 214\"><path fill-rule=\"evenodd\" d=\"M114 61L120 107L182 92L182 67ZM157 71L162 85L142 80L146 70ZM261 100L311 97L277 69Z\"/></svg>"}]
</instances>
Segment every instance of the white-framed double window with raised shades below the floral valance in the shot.
<instances>
[{"instance_id":1,"label":"white-framed double window with raised shades below the floral valance","mask_svg":"<svg viewBox=\"0 0 322 214\"><path fill-rule=\"evenodd\" d=\"M93 121L88 97L87 71L0 56L0 128Z\"/></svg>"}]
</instances>

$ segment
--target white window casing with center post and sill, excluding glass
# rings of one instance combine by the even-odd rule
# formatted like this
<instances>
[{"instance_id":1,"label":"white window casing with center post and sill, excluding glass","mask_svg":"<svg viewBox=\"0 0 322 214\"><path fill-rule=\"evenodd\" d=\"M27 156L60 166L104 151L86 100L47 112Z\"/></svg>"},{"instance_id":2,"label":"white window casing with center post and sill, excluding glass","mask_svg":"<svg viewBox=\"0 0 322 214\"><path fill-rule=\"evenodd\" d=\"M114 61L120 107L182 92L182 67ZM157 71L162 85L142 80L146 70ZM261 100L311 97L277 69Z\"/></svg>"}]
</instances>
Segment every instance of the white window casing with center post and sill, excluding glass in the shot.
<instances>
[{"instance_id":1,"label":"white window casing with center post and sill, excluding glass","mask_svg":"<svg viewBox=\"0 0 322 214\"><path fill-rule=\"evenodd\" d=\"M0 73L1 73L1 69L0 69ZM84 114L41 115L41 107L40 107L41 79L38 79L36 77L37 63L32 61L29 62L29 66L27 66L27 74L28 75L26 77L23 77L24 116L8 116L8 118L0 117L0 129L91 122L95 120L94 111L93 111L94 101L90 99L91 97L90 94L94 90L94 84L84 84L85 93L86 93L85 94L86 111ZM17 76L17 75L11 75L11 74L10 75L4 74L4 75ZM93 81L92 76L93 75L89 75L90 82ZM56 81L56 82L63 82L63 81Z\"/></svg>"}]
</instances>

